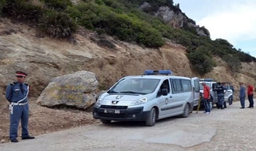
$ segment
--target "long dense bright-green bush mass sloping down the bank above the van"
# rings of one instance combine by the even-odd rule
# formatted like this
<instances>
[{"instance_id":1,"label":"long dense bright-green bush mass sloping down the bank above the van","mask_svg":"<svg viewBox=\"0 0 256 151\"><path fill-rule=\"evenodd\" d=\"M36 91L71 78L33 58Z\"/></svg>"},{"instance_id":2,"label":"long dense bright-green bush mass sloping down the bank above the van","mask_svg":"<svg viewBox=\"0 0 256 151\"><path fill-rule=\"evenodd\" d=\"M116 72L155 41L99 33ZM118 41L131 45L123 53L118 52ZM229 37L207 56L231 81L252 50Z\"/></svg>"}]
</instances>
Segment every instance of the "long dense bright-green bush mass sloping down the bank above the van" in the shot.
<instances>
[{"instance_id":1,"label":"long dense bright-green bush mass sloping down the bank above the van","mask_svg":"<svg viewBox=\"0 0 256 151\"><path fill-rule=\"evenodd\" d=\"M134 15L114 12L105 5L84 3L68 7L65 11L72 18L78 19L78 23L85 28L99 33L106 32L120 40L137 42L148 47L160 47L164 44L161 33L148 22Z\"/></svg>"}]
</instances>

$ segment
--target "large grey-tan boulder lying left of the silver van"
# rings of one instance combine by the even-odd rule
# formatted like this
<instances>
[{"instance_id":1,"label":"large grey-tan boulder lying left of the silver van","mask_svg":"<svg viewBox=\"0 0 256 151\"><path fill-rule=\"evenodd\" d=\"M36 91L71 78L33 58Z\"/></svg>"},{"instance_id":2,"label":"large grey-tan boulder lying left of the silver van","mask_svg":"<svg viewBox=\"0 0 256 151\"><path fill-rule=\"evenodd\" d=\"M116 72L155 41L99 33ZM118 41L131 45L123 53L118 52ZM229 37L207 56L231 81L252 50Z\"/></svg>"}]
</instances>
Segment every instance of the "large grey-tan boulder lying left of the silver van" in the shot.
<instances>
[{"instance_id":1,"label":"large grey-tan boulder lying left of the silver van","mask_svg":"<svg viewBox=\"0 0 256 151\"><path fill-rule=\"evenodd\" d=\"M37 99L37 104L47 107L59 105L87 109L95 103L98 80L95 74L79 71L52 78Z\"/></svg>"}]
</instances>

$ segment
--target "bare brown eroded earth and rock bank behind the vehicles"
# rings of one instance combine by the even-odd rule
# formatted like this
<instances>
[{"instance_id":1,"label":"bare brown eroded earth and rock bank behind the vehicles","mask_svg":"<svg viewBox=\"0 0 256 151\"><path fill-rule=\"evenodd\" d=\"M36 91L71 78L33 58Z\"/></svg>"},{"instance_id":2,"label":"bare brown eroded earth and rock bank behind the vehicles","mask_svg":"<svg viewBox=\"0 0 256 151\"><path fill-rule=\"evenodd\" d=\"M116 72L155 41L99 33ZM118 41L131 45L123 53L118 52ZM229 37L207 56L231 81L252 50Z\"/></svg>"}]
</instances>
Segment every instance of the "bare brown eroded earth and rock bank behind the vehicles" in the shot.
<instances>
[{"instance_id":1,"label":"bare brown eroded earth and rock bank behind the vehicles","mask_svg":"<svg viewBox=\"0 0 256 151\"><path fill-rule=\"evenodd\" d=\"M0 51L1 100L5 100L6 85L16 79L17 70L29 74L27 83L32 86L33 97L40 95L51 78L76 71L95 73L99 89L107 89L123 76L142 74L148 69L170 69L174 75L199 76L191 70L186 48L172 42L158 49L142 48L84 29L70 42L44 37L29 25L6 18L0 18ZM256 84L255 62L244 63L240 73L230 72L219 58L216 62L218 66L205 77L231 81L234 85L238 81Z\"/></svg>"}]
</instances>

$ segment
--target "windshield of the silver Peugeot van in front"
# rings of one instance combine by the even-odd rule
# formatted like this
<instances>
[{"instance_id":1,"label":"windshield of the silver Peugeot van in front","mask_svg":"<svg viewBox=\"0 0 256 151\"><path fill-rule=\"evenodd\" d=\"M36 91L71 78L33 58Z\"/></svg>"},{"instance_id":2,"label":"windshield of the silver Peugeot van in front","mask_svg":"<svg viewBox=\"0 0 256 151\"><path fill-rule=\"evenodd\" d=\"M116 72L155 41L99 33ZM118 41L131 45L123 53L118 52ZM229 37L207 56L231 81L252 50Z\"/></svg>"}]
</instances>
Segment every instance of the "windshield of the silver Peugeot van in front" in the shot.
<instances>
[{"instance_id":1,"label":"windshield of the silver Peugeot van in front","mask_svg":"<svg viewBox=\"0 0 256 151\"><path fill-rule=\"evenodd\" d=\"M148 94L155 91L159 79L127 78L119 81L108 93Z\"/></svg>"}]
</instances>

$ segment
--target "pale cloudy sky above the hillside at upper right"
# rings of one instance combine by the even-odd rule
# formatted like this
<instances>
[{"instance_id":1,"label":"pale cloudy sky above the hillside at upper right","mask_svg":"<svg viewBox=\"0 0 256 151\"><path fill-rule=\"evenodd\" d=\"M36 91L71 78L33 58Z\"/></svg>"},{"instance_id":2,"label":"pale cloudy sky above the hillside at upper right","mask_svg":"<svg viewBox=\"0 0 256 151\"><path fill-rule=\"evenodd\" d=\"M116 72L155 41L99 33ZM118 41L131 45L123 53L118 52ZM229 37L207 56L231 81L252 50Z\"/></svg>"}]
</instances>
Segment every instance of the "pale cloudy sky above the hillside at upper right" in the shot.
<instances>
[{"instance_id":1,"label":"pale cloudy sky above the hillside at upper right","mask_svg":"<svg viewBox=\"0 0 256 151\"><path fill-rule=\"evenodd\" d=\"M173 0L212 40L226 39L256 58L256 0Z\"/></svg>"}]
</instances>

